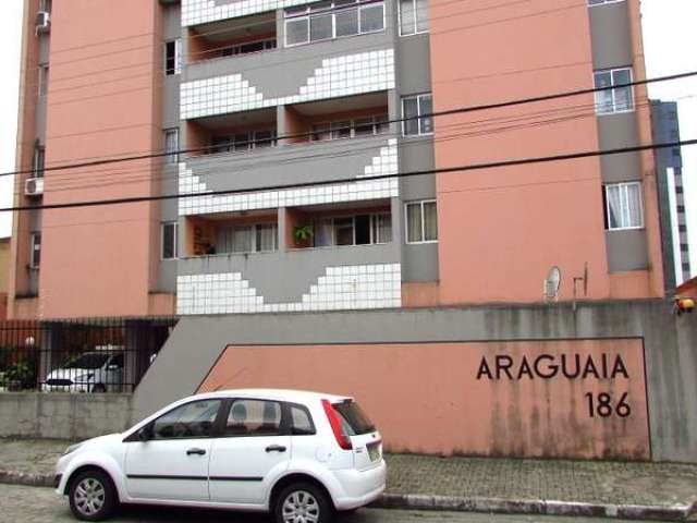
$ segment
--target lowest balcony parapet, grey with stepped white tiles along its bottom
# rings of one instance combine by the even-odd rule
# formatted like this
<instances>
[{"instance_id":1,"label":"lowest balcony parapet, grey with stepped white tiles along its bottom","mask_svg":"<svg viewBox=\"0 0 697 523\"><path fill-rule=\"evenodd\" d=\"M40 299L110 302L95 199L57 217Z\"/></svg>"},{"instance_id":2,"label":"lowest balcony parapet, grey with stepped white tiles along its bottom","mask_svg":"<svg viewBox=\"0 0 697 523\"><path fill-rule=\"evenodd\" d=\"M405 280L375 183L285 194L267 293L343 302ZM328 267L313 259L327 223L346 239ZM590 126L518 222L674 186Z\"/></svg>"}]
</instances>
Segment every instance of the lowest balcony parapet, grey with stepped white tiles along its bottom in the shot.
<instances>
[{"instance_id":1,"label":"lowest balcony parapet, grey with stepped white tiles along its bottom","mask_svg":"<svg viewBox=\"0 0 697 523\"><path fill-rule=\"evenodd\" d=\"M180 259L178 313L399 307L399 244Z\"/></svg>"}]
</instances>

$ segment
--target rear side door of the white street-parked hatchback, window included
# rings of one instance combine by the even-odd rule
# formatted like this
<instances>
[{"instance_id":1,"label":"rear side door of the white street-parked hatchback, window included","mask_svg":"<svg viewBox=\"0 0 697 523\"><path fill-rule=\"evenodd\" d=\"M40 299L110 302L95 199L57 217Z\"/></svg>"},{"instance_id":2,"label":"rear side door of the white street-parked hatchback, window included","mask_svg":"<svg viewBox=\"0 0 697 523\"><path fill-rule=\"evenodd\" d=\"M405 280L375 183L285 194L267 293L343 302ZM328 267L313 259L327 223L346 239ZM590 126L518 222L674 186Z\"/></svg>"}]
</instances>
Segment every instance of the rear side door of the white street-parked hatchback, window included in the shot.
<instances>
[{"instance_id":1,"label":"rear side door of the white street-parked hatchback, window included","mask_svg":"<svg viewBox=\"0 0 697 523\"><path fill-rule=\"evenodd\" d=\"M233 399L210 454L210 500L264 504L290 463L291 436L281 402Z\"/></svg>"}]
</instances>

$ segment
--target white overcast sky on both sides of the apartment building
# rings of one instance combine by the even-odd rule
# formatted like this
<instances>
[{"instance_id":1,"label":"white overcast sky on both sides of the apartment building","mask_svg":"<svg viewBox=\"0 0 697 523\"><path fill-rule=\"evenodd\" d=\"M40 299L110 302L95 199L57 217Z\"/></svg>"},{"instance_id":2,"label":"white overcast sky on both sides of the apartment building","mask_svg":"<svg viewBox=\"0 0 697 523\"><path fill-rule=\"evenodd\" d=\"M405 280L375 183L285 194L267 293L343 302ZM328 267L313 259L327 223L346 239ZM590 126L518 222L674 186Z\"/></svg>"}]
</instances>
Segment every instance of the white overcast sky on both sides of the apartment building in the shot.
<instances>
[{"instance_id":1,"label":"white overcast sky on both sides of the apartment building","mask_svg":"<svg viewBox=\"0 0 697 523\"><path fill-rule=\"evenodd\" d=\"M23 0L0 0L0 171L14 169ZM697 0L643 0L644 42L648 76L697 70ZM682 139L697 138L697 77L651 84L652 98L678 99ZM685 96L695 98L683 99ZM683 150L685 200L693 276L697 273L697 146ZM11 177L0 179L0 207L12 204ZM0 212L0 236L11 234L11 217Z\"/></svg>"}]
</instances>

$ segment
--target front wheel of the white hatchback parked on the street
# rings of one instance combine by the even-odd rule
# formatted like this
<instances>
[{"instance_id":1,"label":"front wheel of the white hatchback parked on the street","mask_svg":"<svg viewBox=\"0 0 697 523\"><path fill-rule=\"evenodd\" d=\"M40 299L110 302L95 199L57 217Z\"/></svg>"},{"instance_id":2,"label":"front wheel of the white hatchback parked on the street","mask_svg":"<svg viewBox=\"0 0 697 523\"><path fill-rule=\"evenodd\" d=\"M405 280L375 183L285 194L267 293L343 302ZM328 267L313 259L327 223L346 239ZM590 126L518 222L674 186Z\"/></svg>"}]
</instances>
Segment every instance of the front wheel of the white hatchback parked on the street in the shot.
<instances>
[{"instance_id":1,"label":"front wheel of the white hatchback parked on the street","mask_svg":"<svg viewBox=\"0 0 697 523\"><path fill-rule=\"evenodd\" d=\"M102 521L118 504L117 489L111 478L100 471L81 473L70 487L70 509L82 521Z\"/></svg>"}]
</instances>

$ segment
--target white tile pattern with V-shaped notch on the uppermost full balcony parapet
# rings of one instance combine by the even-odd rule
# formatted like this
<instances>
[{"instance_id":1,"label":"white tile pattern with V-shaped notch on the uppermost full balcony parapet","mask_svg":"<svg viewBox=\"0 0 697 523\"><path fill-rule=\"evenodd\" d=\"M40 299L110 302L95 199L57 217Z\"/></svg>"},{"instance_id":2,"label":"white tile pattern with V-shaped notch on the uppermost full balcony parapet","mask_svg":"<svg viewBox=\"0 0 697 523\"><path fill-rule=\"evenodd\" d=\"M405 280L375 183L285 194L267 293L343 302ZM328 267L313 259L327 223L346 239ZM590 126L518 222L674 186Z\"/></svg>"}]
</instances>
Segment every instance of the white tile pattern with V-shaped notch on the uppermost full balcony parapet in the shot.
<instances>
[{"instance_id":1,"label":"white tile pattern with V-shaped notch on the uppermost full balcony parapet","mask_svg":"<svg viewBox=\"0 0 697 523\"><path fill-rule=\"evenodd\" d=\"M278 98L265 98L242 74L185 82L180 109L187 120L393 88L394 50L382 49L327 58L297 94Z\"/></svg>"}]
</instances>

